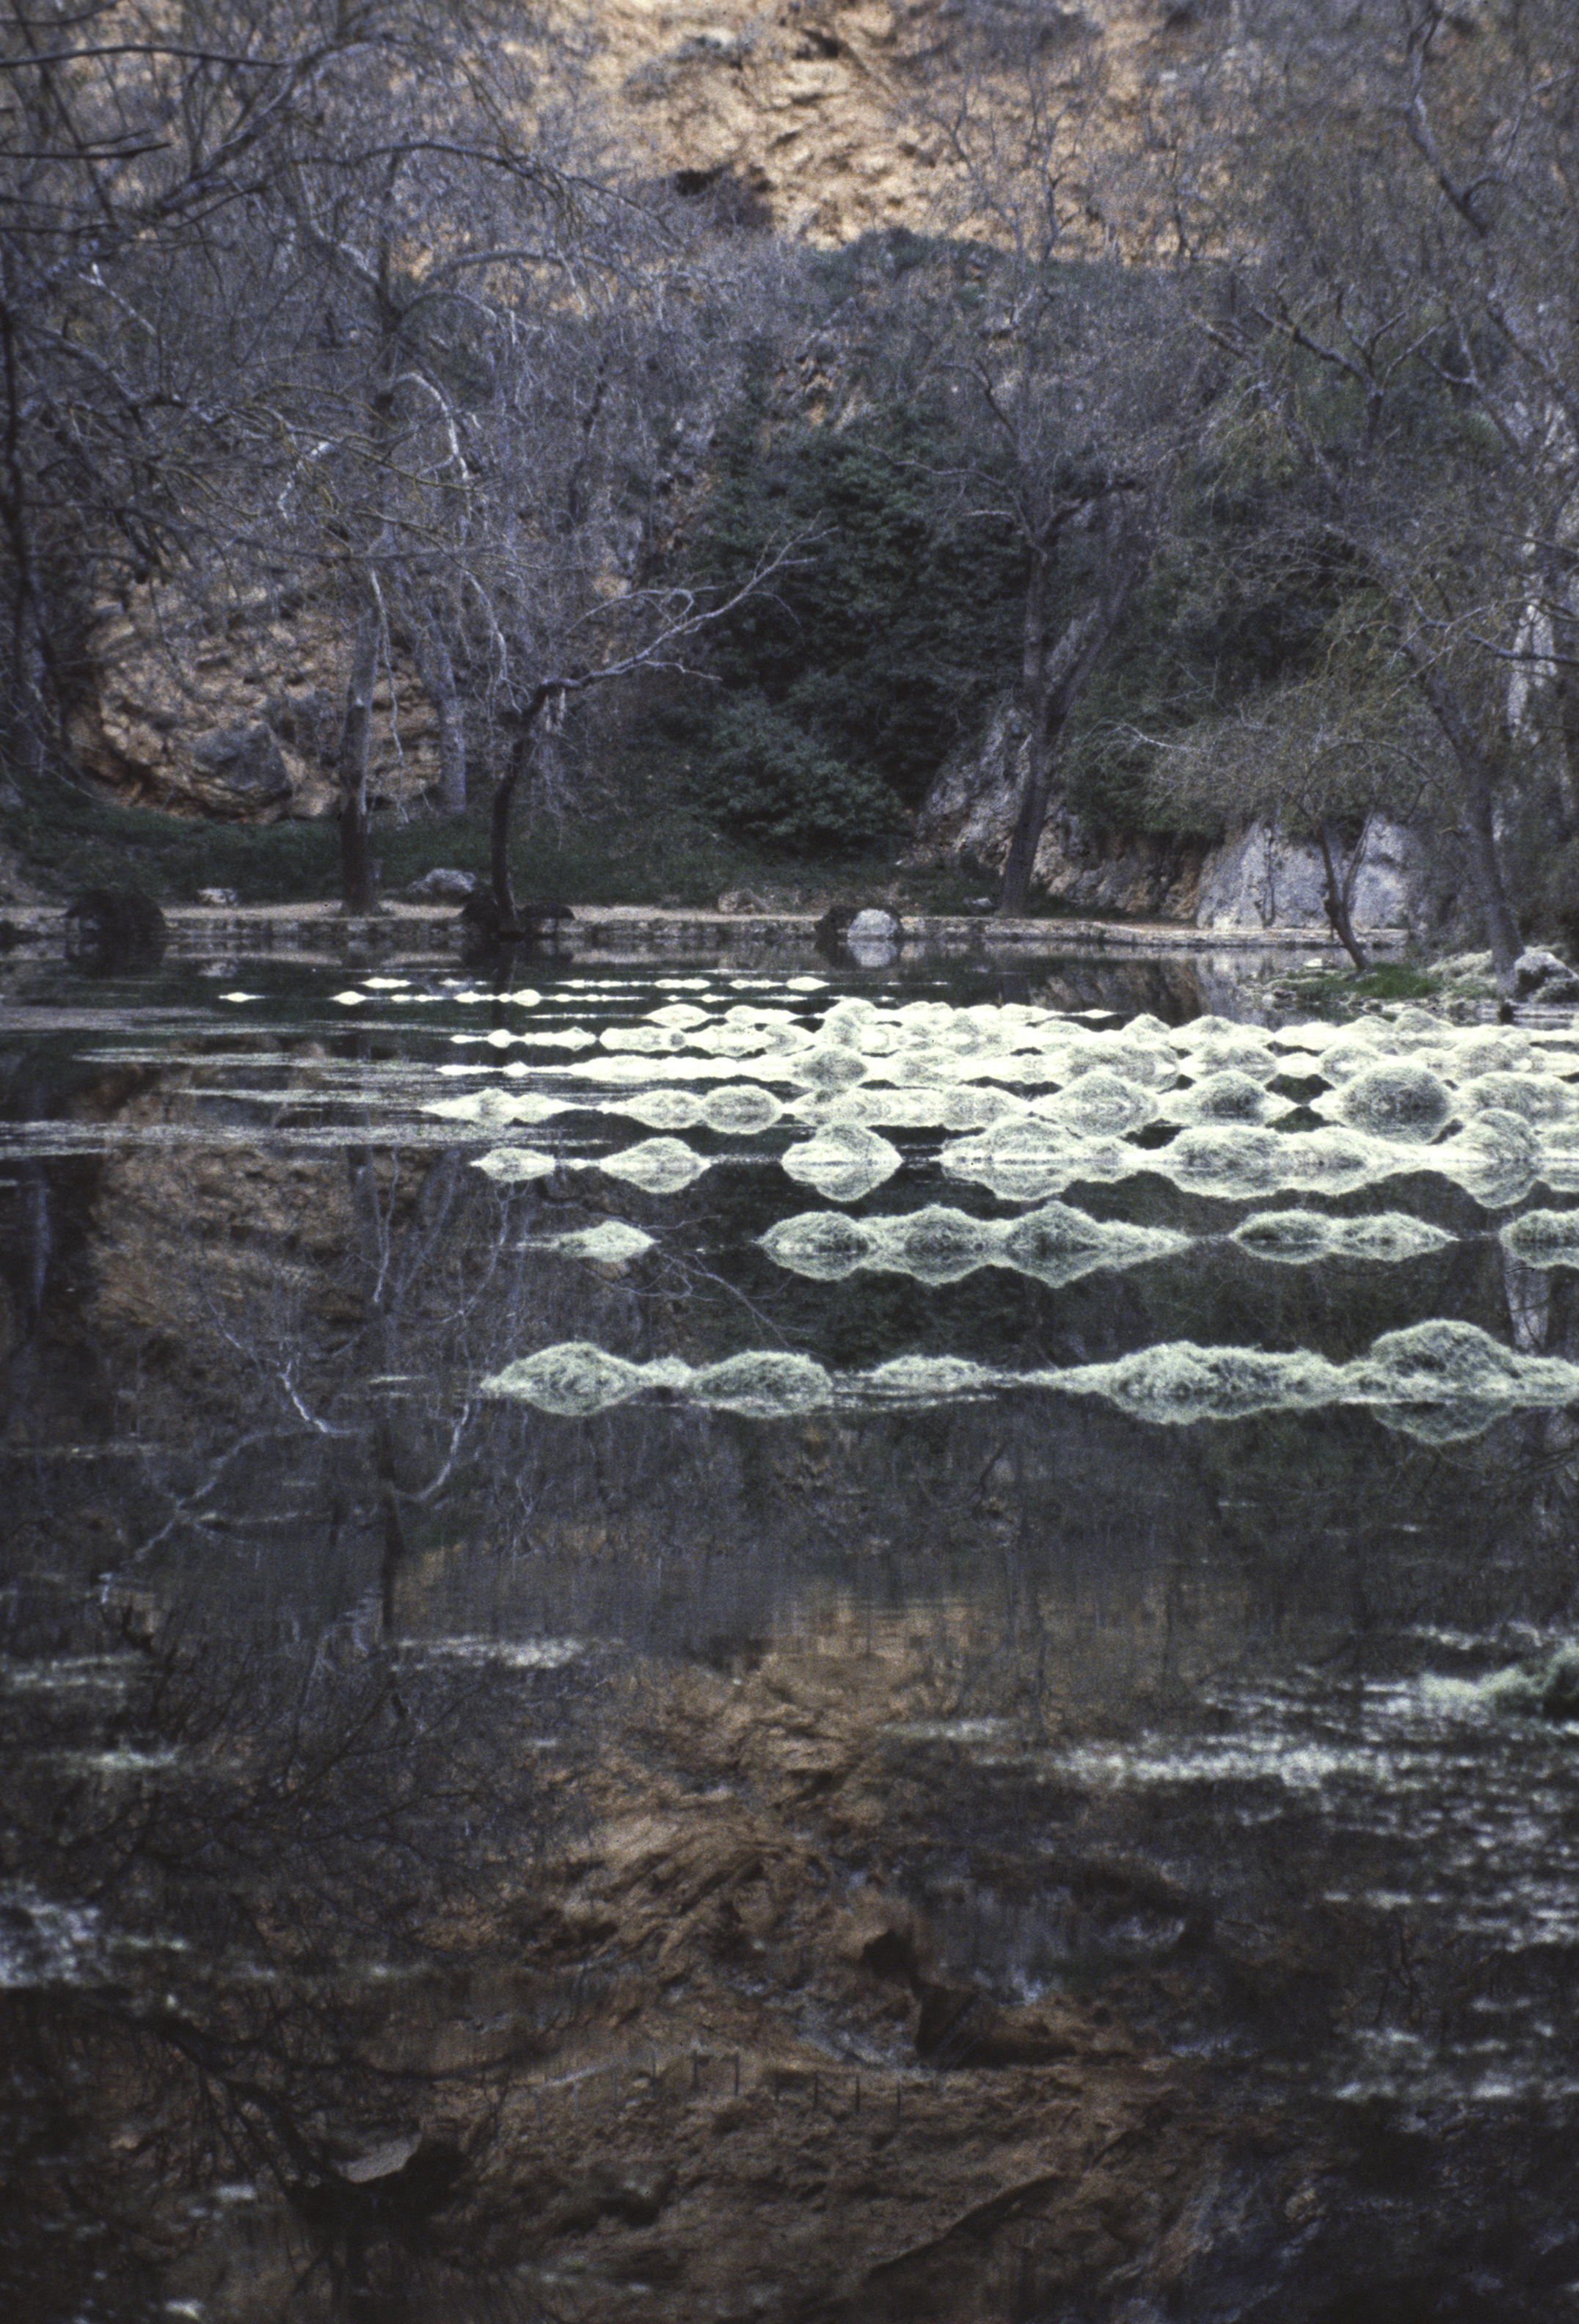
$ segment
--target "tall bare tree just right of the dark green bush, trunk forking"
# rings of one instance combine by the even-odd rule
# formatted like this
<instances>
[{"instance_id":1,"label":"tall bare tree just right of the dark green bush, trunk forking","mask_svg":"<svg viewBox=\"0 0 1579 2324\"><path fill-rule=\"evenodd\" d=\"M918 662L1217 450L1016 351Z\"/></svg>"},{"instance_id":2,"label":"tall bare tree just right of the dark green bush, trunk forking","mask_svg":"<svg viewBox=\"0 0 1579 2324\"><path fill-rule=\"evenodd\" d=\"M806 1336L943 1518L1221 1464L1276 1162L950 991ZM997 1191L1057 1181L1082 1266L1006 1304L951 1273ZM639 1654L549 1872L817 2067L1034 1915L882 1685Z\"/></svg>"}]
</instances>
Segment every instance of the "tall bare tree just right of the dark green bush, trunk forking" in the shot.
<instances>
[{"instance_id":1,"label":"tall bare tree just right of the dark green bush, trunk forking","mask_svg":"<svg viewBox=\"0 0 1579 2324\"><path fill-rule=\"evenodd\" d=\"M1000 911L1023 911L1070 718L1167 525L1209 395L1167 267L1100 223L1095 51L1023 26L967 46L926 100L951 163L965 279L928 316L967 446L946 479L1021 544L1028 751Z\"/></svg>"}]
</instances>

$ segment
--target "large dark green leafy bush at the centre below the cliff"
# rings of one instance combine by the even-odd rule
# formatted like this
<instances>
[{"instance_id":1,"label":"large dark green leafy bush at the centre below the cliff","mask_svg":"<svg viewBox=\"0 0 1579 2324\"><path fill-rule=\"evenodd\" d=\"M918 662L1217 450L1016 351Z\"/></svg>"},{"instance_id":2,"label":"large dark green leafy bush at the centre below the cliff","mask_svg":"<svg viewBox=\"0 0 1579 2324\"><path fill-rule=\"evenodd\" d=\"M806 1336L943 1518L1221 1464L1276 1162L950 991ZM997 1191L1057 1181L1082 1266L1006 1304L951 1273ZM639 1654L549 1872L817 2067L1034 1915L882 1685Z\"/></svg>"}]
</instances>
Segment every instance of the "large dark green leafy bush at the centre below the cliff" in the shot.
<instances>
[{"instance_id":1,"label":"large dark green leafy bush at the centre below the cliff","mask_svg":"<svg viewBox=\"0 0 1579 2324\"><path fill-rule=\"evenodd\" d=\"M877 837L979 732L1014 669L1021 558L951 504L953 460L946 425L907 407L835 425L774 411L760 381L742 400L686 579L735 590L786 544L791 562L714 634L721 683L684 732L644 734L730 830L798 851Z\"/></svg>"}]
</instances>

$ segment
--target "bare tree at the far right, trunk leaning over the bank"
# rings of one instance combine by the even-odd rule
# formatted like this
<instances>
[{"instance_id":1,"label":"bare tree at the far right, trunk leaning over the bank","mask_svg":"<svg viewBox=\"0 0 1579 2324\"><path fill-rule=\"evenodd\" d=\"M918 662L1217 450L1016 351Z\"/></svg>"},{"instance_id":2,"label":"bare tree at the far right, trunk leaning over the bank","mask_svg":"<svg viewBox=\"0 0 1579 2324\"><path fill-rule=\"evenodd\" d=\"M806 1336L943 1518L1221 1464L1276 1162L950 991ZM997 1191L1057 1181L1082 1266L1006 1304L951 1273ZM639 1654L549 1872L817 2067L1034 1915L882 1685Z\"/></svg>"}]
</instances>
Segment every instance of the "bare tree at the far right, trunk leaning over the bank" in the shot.
<instances>
[{"instance_id":1,"label":"bare tree at the far right, trunk leaning over the bank","mask_svg":"<svg viewBox=\"0 0 1579 2324\"><path fill-rule=\"evenodd\" d=\"M1233 56L1158 95L1158 218L1309 560L1349 562L1456 767L1502 978L1500 820L1530 755L1572 795L1579 70L1565 12L1249 0ZM1537 711L1546 709L1546 716Z\"/></svg>"}]
</instances>

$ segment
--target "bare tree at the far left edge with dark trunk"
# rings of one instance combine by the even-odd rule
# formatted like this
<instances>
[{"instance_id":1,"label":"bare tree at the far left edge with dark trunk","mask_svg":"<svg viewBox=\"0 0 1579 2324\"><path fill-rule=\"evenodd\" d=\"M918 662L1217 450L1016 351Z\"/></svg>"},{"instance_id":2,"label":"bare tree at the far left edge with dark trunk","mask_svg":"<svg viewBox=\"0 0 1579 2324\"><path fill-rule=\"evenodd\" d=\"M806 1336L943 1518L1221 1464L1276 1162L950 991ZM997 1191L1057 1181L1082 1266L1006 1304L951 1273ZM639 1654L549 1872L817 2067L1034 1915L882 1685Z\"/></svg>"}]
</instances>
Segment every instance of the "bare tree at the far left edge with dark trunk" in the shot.
<instances>
[{"instance_id":1,"label":"bare tree at the far left edge with dark trunk","mask_svg":"<svg viewBox=\"0 0 1579 2324\"><path fill-rule=\"evenodd\" d=\"M293 253L267 232L281 130L328 105L349 60L393 46L398 23L388 7L88 0L0 35L0 525L21 767L60 744L72 614L177 569L228 574L256 500L237 481L260 456L279 481L281 414L251 390L258 330L279 339L281 304L300 304Z\"/></svg>"}]
</instances>

